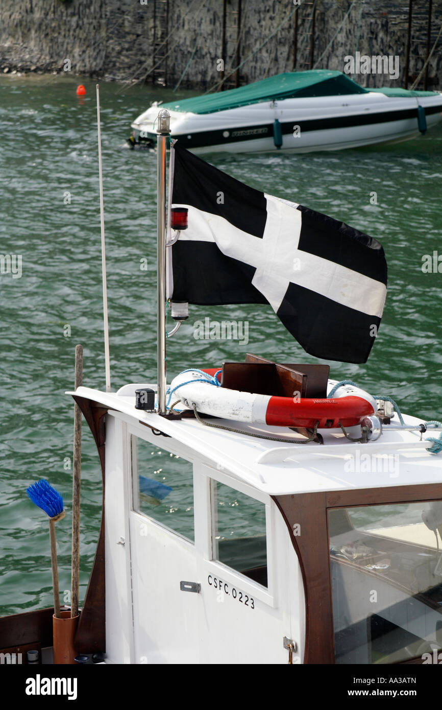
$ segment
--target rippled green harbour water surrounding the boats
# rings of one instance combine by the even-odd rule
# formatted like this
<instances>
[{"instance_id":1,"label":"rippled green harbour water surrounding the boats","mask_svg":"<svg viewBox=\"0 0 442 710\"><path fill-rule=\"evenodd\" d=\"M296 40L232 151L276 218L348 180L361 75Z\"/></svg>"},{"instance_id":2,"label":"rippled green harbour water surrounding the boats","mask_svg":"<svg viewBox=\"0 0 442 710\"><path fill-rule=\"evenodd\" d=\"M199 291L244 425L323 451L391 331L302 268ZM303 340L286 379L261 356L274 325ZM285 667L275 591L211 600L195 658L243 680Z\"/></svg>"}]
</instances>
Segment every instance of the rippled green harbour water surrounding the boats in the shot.
<instances>
[{"instance_id":1,"label":"rippled green harbour water surrounding the boats","mask_svg":"<svg viewBox=\"0 0 442 710\"><path fill-rule=\"evenodd\" d=\"M84 346L84 384L104 388L95 90L92 81L82 82L87 94L79 99L75 78L0 77L0 253L22 255L21 278L0 275L1 614L52 603L48 524L25 492L42 476L65 500L57 542L60 589L70 587L72 484L65 459L72 459L73 410L64 392L73 385L75 344ZM190 94L101 84L113 389L156 379L155 156L126 150L125 138L151 100L177 95ZM388 393L404 411L427 419L442 417L442 273L421 271L424 254L442 254L441 158L441 127L388 148L207 156L238 180L382 241L389 290L377 342L367 364L331 363L331 376ZM194 339L192 324L206 316L247 321L248 344ZM188 324L168 344L169 378L184 367L243 359L245 352L316 361L270 307L191 307ZM100 514L98 457L84 427L80 596Z\"/></svg>"}]
</instances>

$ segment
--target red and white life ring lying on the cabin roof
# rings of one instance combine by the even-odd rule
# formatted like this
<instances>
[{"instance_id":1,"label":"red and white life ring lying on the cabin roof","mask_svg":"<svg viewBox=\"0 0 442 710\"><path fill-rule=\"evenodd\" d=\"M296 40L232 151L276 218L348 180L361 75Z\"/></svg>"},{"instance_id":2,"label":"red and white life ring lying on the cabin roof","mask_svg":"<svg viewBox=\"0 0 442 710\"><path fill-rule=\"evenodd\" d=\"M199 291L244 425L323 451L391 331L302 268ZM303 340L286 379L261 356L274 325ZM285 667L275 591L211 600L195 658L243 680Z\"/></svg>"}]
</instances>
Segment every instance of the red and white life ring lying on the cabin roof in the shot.
<instances>
[{"instance_id":1,"label":"red and white life ring lying on the cabin roof","mask_svg":"<svg viewBox=\"0 0 442 710\"><path fill-rule=\"evenodd\" d=\"M351 385L339 387L329 399L276 397L216 386L217 372L216 368L205 368L180 373L170 383L170 398L189 408L195 404L202 414L274 427L311 428L316 422L319 429L353 427L377 410L368 392ZM328 380L327 393L336 384L336 380Z\"/></svg>"}]
</instances>

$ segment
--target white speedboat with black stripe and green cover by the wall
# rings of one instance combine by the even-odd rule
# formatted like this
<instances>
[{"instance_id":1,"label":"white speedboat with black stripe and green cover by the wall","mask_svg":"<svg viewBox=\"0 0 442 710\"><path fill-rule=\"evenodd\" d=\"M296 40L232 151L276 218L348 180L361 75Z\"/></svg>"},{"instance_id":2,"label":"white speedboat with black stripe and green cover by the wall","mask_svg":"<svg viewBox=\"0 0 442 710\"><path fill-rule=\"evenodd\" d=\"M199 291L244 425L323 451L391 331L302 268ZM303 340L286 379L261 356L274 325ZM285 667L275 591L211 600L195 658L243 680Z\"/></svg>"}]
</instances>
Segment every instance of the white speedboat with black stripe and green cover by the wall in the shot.
<instances>
[{"instance_id":1,"label":"white speedboat with black stripe and green cover by the wall","mask_svg":"<svg viewBox=\"0 0 442 710\"><path fill-rule=\"evenodd\" d=\"M160 109L172 138L194 153L336 151L424 133L441 119L442 94L364 89L337 71L279 74L245 87L153 104L133 122L131 146L153 147Z\"/></svg>"}]
</instances>

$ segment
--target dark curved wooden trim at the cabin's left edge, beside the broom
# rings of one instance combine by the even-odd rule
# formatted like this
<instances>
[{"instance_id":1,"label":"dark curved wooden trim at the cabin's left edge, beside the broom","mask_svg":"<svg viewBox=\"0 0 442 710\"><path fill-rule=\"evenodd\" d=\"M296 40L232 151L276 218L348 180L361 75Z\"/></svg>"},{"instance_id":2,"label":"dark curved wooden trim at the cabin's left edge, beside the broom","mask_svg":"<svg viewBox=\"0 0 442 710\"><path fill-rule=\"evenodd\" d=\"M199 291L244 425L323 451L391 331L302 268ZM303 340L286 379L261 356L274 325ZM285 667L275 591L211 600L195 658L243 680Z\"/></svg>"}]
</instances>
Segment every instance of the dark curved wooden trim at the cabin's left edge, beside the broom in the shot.
<instances>
[{"instance_id":1,"label":"dark curved wooden trim at the cabin's left edge, beside the broom","mask_svg":"<svg viewBox=\"0 0 442 710\"><path fill-rule=\"evenodd\" d=\"M104 442L106 429L104 417L108 408L92 400L72 395L77 402L89 429L94 436L101 464L101 479L103 482L103 504L101 524L94 564L87 585L82 613L80 614L74 645L79 653L106 651L106 571L104 556Z\"/></svg>"}]
</instances>

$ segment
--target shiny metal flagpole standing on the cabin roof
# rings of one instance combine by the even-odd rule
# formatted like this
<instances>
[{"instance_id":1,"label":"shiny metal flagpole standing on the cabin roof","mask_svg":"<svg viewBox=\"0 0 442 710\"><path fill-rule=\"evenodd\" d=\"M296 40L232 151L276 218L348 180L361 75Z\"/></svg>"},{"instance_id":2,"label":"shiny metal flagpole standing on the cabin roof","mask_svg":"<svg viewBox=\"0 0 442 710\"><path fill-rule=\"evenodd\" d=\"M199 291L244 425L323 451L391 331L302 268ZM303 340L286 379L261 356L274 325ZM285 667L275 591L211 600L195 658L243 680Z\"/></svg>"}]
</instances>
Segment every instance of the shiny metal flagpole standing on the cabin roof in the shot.
<instances>
[{"instance_id":1,"label":"shiny metal flagpole standing on the cabin roof","mask_svg":"<svg viewBox=\"0 0 442 710\"><path fill-rule=\"evenodd\" d=\"M158 414L166 412L166 148L170 138L170 114L158 114L157 127L157 368Z\"/></svg>"}]
</instances>

